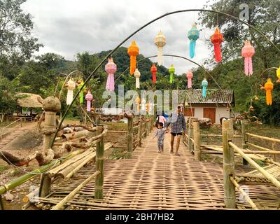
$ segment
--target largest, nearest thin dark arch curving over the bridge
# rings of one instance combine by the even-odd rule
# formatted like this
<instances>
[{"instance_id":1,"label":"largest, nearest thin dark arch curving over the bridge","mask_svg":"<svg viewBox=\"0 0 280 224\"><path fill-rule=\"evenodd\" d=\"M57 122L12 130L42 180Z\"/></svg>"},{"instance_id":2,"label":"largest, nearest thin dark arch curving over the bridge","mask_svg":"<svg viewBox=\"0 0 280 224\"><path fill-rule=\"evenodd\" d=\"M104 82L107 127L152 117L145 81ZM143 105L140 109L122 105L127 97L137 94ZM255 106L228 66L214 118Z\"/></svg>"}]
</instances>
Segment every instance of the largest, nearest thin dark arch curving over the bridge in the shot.
<instances>
[{"instance_id":1,"label":"largest, nearest thin dark arch curving over the bridge","mask_svg":"<svg viewBox=\"0 0 280 224\"><path fill-rule=\"evenodd\" d=\"M100 66L102 66L102 64L105 62L105 60L110 57L113 52L115 52L118 48L120 48L121 45L123 45L123 43L125 43L129 38L131 38L132 36L134 36L134 34L137 34L141 29L144 29L145 27L147 27L148 25L150 25L151 23L160 20L161 18L165 18L167 15L172 15L172 14L176 14L176 13L186 13L186 12L209 12L209 13L217 13L217 14L221 14L221 15L226 15L230 18L232 18L233 20L237 20L239 22L242 22L244 25L247 25L248 27L251 27L253 30L255 30L256 32L258 32L258 34L260 34L262 37L264 37L267 41L269 41L269 43L272 43L272 45L274 46L274 48L276 48L276 50L278 50L280 52L280 49L272 42L269 40L269 38L267 38L267 36L265 36L265 34L263 34L261 31L259 31L258 29L256 29L255 27L253 27L252 25L249 25L247 22L244 22L243 20L240 20L239 18L236 18L233 15L230 15L228 13L223 13L217 10L209 10L209 9L184 9L184 10L176 10L173 11L171 13L165 13L163 15L160 15L158 18L155 18L153 20L151 20L150 22L147 22L145 25L143 25L142 27L140 27L139 29L137 29L136 31L134 31L132 34L130 34L129 36L127 36L127 38L125 38L122 42L120 42L116 48L114 48L113 50L111 50L111 52L109 52L108 55L106 55L106 57L104 57L104 59L102 59L102 62L100 62L97 67L94 69L94 71L92 71L92 73L90 74L90 76L87 77L87 79L85 80L85 83L83 84L83 86L80 88L80 90L83 89L83 87L85 86L85 84L90 80L90 78L92 77L92 75L94 75L94 73L97 71L97 69L100 68ZM66 113L68 113L69 109L71 108L71 106L73 105L73 102L76 100L76 98L78 97L78 94L80 93L80 90L78 90L78 92L76 93L75 97L73 97L73 100L71 102L71 104L67 107L64 116L62 117L62 119L59 122L59 125L57 127L57 132L59 131L63 120L66 116ZM50 145L50 147L53 146L53 144L55 143L55 137L57 136L57 132L55 132L55 135L52 139L52 143Z\"/></svg>"}]
</instances>

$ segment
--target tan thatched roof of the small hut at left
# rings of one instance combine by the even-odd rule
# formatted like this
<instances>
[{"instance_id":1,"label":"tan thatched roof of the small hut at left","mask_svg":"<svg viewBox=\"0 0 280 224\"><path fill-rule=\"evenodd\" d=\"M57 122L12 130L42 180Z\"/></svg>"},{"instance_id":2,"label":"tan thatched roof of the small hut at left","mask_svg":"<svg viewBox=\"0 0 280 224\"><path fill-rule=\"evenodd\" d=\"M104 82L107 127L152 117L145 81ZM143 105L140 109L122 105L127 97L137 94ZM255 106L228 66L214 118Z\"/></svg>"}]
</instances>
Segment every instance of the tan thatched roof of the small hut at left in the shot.
<instances>
[{"instance_id":1,"label":"tan thatched roof of the small hut at left","mask_svg":"<svg viewBox=\"0 0 280 224\"><path fill-rule=\"evenodd\" d=\"M18 99L18 105L22 107L42 107L42 104L38 102L38 99L43 100L43 98L38 94L18 92L16 96L20 97Z\"/></svg>"}]
</instances>

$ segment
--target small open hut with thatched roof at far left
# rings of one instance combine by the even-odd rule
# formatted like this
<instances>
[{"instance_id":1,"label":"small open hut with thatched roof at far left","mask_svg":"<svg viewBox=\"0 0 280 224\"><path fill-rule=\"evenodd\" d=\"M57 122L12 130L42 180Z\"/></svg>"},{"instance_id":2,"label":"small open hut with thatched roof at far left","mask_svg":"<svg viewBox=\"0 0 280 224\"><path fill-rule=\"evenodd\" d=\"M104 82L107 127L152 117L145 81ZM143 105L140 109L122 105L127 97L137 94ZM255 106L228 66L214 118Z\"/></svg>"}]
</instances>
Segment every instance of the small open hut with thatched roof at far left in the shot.
<instances>
[{"instance_id":1,"label":"small open hut with thatched roof at far left","mask_svg":"<svg viewBox=\"0 0 280 224\"><path fill-rule=\"evenodd\" d=\"M25 118L25 120L33 120L37 113L33 113L34 108L42 108L41 102L43 98L38 94L31 94L27 92L18 92L18 110L15 118ZM27 113L23 113L22 108L29 109Z\"/></svg>"}]
</instances>

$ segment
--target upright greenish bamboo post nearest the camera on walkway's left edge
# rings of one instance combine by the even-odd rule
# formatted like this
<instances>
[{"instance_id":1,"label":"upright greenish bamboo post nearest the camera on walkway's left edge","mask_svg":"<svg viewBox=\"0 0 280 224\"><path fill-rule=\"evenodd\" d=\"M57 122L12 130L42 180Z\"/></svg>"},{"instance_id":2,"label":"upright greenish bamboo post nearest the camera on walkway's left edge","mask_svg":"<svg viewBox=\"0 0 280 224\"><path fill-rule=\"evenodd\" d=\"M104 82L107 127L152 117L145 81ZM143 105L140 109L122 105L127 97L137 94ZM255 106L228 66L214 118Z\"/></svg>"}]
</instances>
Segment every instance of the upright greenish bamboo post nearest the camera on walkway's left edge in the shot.
<instances>
[{"instance_id":1,"label":"upright greenish bamboo post nearest the camera on walkway's left edge","mask_svg":"<svg viewBox=\"0 0 280 224\"><path fill-rule=\"evenodd\" d=\"M94 198L103 199L104 182L104 137L97 143L96 170L100 172L95 179Z\"/></svg>"}]
</instances>

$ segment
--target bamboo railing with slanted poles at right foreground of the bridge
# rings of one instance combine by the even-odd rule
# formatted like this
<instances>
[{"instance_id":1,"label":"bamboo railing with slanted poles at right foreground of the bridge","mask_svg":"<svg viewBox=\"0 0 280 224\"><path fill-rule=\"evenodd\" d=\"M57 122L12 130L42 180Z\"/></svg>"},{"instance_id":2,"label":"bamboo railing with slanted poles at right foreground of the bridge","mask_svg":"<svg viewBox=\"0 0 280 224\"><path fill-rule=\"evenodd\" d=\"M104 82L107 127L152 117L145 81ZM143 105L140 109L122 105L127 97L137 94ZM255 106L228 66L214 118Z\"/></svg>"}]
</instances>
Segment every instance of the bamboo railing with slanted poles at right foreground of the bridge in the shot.
<instances>
[{"instance_id":1,"label":"bamboo railing with slanted poles at right foreground of the bridge","mask_svg":"<svg viewBox=\"0 0 280 224\"><path fill-rule=\"evenodd\" d=\"M267 167L260 167L250 156L248 153L252 154L278 154L279 151L250 151L248 150L248 136L257 137L259 139L265 139L268 141L280 141L279 139L271 139L268 137L261 137L255 134L250 134L246 132L248 128L248 123L246 121L242 121L242 148L236 146L233 142L233 124L232 120L224 120L223 121L223 172L224 172L224 192L225 192L225 207L229 209L235 209L236 207L236 195L235 189L239 190L241 195L244 196L246 202L251 205L252 209L258 209L255 203L251 200L251 198L244 192L242 188L239 186L239 182L248 178L260 181L261 179L267 179L267 181L263 181L263 183L271 183L276 186L280 190L280 181L276 179L276 175L280 176L280 164L274 161L271 165ZM261 148L258 148L261 149ZM235 174L235 153L238 153L249 165L255 168L253 172L248 172L247 174ZM261 175L255 175L255 172ZM259 182L258 182L259 183Z\"/></svg>"}]
</instances>

